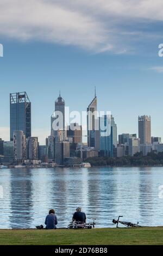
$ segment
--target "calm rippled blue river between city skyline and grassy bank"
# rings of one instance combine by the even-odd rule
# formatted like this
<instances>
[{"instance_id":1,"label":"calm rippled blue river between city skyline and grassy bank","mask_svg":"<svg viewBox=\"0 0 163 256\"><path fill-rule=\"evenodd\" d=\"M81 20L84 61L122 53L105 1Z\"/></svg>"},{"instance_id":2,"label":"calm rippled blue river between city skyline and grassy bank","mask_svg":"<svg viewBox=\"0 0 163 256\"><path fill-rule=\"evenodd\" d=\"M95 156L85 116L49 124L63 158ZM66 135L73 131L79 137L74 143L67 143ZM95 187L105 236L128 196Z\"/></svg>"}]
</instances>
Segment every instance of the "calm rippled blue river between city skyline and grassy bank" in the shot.
<instances>
[{"instance_id":1,"label":"calm rippled blue river between city skyline and grassy bank","mask_svg":"<svg viewBox=\"0 0 163 256\"><path fill-rule=\"evenodd\" d=\"M115 227L112 219L163 225L163 167L1 169L0 228L34 228L49 209L58 227L67 227L77 206L97 227ZM2 196L2 194L1 194Z\"/></svg>"}]
</instances>

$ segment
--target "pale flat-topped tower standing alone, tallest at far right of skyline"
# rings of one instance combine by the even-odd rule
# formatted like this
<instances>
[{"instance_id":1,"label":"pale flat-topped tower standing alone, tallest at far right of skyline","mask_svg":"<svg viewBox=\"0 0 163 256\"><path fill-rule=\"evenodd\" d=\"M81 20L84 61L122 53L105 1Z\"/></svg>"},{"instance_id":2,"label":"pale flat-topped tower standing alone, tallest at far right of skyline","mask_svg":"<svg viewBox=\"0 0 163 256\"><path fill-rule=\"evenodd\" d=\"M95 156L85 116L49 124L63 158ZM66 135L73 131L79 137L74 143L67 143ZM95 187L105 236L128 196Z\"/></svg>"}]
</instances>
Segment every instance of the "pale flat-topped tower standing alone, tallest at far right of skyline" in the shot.
<instances>
[{"instance_id":1,"label":"pale flat-topped tower standing alone, tallest at far right of skyline","mask_svg":"<svg viewBox=\"0 0 163 256\"><path fill-rule=\"evenodd\" d=\"M141 115L138 117L140 144L151 144L151 117Z\"/></svg>"}]
</instances>

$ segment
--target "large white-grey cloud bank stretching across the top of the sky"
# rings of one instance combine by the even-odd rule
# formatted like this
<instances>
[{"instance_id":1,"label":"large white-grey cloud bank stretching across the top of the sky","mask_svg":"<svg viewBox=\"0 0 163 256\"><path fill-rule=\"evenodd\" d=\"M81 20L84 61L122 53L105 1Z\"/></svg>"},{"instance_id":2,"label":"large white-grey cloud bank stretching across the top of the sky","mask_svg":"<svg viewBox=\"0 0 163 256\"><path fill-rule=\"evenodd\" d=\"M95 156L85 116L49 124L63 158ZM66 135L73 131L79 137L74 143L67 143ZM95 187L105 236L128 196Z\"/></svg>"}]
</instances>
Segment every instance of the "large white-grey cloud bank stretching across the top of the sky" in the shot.
<instances>
[{"instance_id":1,"label":"large white-grey cloud bank stretching across the top of the sky","mask_svg":"<svg viewBox=\"0 0 163 256\"><path fill-rule=\"evenodd\" d=\"M126 53L163 21L161 0L1 0L0 35ZM117 52L117 48L121 50Z\"/></svg>"}]
</instances>

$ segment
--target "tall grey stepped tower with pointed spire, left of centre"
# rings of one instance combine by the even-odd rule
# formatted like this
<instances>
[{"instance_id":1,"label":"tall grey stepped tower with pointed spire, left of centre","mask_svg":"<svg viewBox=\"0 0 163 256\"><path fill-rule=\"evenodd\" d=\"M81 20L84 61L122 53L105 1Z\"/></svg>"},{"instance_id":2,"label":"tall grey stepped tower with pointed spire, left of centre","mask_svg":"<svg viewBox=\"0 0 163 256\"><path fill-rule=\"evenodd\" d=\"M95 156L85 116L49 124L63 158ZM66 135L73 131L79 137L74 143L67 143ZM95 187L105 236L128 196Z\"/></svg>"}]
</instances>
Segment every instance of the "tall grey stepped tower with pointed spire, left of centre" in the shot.
<instances>
[{"instance_id":1,"label":"tall grey stepped tower with pointed spire, left of centre","mask_svg":"<svg viewBox=\"0 0 163 256\"><path fill-rule=\"evenodd\" d=\"M59 114L60 113L60 114ZM57 119L57 129L54 127L54 121ZM57 137L58 130L62 133L63 140L65 139L65 101L60 93L55 101L55 112L51 116L51 136Z\"/></svg>"}]
</instances>

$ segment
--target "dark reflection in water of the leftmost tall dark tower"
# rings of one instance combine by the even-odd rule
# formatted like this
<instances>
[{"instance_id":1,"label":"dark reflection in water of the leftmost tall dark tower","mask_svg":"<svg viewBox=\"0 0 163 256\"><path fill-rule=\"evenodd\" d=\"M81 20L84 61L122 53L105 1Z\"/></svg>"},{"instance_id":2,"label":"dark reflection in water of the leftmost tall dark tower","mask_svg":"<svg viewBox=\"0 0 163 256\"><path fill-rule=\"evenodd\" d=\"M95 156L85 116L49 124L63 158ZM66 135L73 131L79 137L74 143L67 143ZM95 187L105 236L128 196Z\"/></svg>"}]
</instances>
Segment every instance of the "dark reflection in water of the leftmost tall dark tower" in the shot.
<instances>
[{"instance_id":1,"label":"dark reflection in water of the leftmost tall dark tower","mask_svg":"<svg viewBox=\"0 0 163 256\"><path fill-rule=\"evenodd\" d=\"M10 227L29 228L33 217L31 170L15 168L10 173Z\"/></svg>"}]
</instances>

